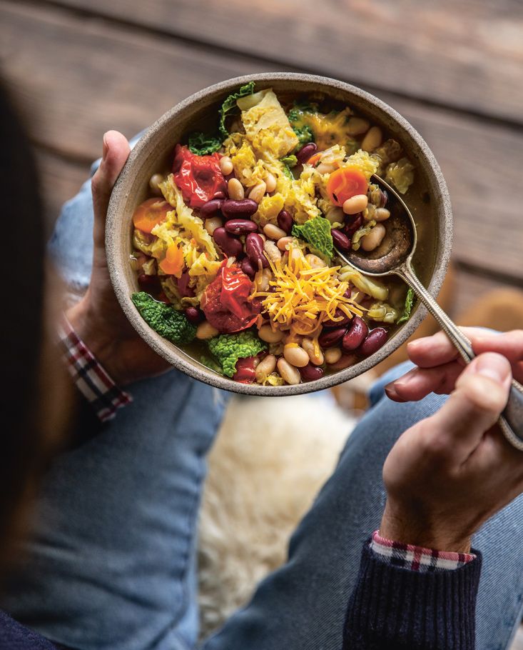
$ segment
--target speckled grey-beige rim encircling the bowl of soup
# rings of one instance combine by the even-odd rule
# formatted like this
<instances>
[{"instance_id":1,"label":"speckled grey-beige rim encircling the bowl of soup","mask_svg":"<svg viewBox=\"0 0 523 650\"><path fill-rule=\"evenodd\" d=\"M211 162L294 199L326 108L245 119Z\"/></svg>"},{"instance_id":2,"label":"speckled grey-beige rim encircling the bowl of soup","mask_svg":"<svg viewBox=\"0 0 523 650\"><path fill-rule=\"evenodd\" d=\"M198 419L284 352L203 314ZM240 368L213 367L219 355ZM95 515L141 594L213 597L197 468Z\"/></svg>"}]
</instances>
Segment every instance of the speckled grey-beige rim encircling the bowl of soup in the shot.
<instances>
[{"instance_id":1,"label":"speckled grey-beige rim encircling the bowl of soup","mask_svg":"<svg viewBox=\"0 0 523 650\"><path fill-rule=\"evenodd\" d=\"M164 359L169 361L169 363L171 363L176 369L188 374L194 379L203 381L205 384L247 395L288 396L320 391L353 379L363 372L370 370L373 366L379 364L380 361L383 361L383 359L386 359L387 356L392 354L393 351L395 351L415 332L417 326L419 326L422 319L424 319L427 314L425 306L420 304L418 301L415 311L412 313L410 319L395 333L390 341L387 341L387 343L375 354L372 354L367 357L367 359L363 359L354 366L350 366L345 370L323 376L322 379L298 384L297 386L260 386L259 384L240 384L237 381L233 381L232 379L228 379L227 377L221 376L218 373L207 369L196 361L196 359L193 359L183 350L169 343L165 339L162 339L161 336L149 328L146 322L143 321L141 316L138 314L138 311L136 311L136 308L131 301L131 293L133 290L128 286L126 276L123 273L123 269L121 268L121 264L119 263L116 254L118 241L116 232L123 226L127 229L129 225L128 223L123 224L123 211L120 209L120 206L128 199L127 186L131 184L131 179L133 178L133 174L135 174L135 167L138 166L138 161L141 159L141 156L146 154L148 139L150 139L151 136L166 123L176 119L176 116L181 114L182 111L188 109L191 105L200 105L200 102L211 97L213 98L212 101L215 101L216 94L223 93L226 95L238 86L248 83L248 81L269 84L271 81L298 81L298 83L303 81L306 84L319 84L322 86L321 89L318 89L320 91L328 92L328 89L330 88L347 92L353 96L357 96L362 99L362 101L366 101L368 104L377 107L377 109L383 111L400 127L402 127L402 129L404 129L407 136L409 136L415 144L415 148L417 148L417 156L420 161L422 161L422 166L429 182L431 199L435 199L436 201L435 214L437 214L438 217L436 237L440 242L440 251L439 255L435 259L435 268L427 289L430 291L432 296L437 296L441 289L443 279L445 278L445 273L450 260L450 252L452 248L452 207L450 204L447 184L445 183L440 166L437 164L435 156L432 154L429 146L404 117L392 109L388 104L385 104L384 101L370 93L367 93L356 86L346 84L343 81L338 81L337 79L291 72L248 74L221 81L219 84L214 84L213 86L208 86L207 88L189 96L187 99L184 99L179 104L176 104L176 106L173 106L171 110L161 116L161 118L158 119L145 134L143 134L131 151L128 161L121 171L120 176L118 176L118 180L116 181L111 194L111 201L109 202L106 221L108 269L111 275L114 291L116 292L118 301L121 304L124 313L128 317L128 320L151 348ZM327 86L327 89L325 89L325 86ZM425 164L423 163L423 159L425 159Z\"/></svg>"}]
</instances>

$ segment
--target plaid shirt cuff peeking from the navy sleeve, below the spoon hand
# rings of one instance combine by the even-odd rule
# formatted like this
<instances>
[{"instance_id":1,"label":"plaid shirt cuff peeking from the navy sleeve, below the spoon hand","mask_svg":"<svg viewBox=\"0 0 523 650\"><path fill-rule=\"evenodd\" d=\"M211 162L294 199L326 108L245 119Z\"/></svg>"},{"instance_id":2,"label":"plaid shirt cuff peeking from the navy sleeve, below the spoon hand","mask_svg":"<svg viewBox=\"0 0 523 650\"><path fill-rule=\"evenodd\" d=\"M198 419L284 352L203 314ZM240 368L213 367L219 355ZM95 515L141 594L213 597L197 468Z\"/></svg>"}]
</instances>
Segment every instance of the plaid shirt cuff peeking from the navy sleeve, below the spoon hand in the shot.
<instances>
[{"instance_id":1,"label":"plaid shirt cuff peeking from the navy sleeve, below the spoon hand","mask_svg":"<svg viewBox=\"0 0 523 650\"><path fill-rule=\"evenodd\" d=\"M472 553L434 551L424 549L422 546L400 544L397 541L380 537L379 531L372 534L370 549L387 564L420 573L437 570L452 571L476 559Z\"/></svg>"}]
</instances>

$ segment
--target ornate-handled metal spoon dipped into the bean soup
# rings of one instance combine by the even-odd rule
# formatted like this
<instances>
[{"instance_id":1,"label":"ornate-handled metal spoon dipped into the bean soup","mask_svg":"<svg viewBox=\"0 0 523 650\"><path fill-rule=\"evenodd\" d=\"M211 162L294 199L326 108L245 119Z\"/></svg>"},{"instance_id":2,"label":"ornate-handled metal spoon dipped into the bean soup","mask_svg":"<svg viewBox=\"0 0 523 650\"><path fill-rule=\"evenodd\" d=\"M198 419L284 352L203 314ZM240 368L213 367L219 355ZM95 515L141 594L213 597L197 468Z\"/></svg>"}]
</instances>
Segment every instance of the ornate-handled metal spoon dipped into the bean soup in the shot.
<instances>
[{"instance_id":1,"label":"ornate-handled metal spoon dipped into the bean soup","mask_svg":"<svg viewBox=\"0 0 523 650\"><path fill-rule=\"evenodd\" d=\"M456 346L464 361L469 364L475 356L469 339L445 314L445 311L432 298L412 271L411 263L416 250L417 234L410 210L397 192L383 179L373 176L372 180L388 195L387 209L390 210L390 217L384 222L385 237L380 246L372 252L366 252L360 248L357 251L350 250L342 253L336 249L337 254L347 264L366 275L395 274L400 276L412 287ZM515 379L512 380L507 406L499 417L499 426L510 444L523 451L523 386Z\"/></svg>"}]
</instances>

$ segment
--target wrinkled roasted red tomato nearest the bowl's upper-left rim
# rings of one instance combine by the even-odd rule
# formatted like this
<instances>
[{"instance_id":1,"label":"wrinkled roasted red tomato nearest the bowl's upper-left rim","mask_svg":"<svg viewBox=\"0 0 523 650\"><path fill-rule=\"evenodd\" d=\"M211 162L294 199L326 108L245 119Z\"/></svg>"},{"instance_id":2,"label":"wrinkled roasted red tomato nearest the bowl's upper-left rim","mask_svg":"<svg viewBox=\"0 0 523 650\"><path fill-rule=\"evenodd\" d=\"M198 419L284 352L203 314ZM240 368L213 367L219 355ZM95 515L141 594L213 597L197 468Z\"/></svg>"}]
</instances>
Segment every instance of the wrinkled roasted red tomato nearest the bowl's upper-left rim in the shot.
<instances>
[{"instance_id":1,"label":"wrinkled roasted red tomato nearest the bowl's upper-left rim","mask_svg":"<svg viewBox=\"0 0 523 650\"><path fill-rule=\"evenodd\" d=\"M217 192L226 195L227 182L220 171L220 156L197 156L187 146L177 144L173 162L176 185L191 208L200 208Z\"/></svg>"}]
</instances>

